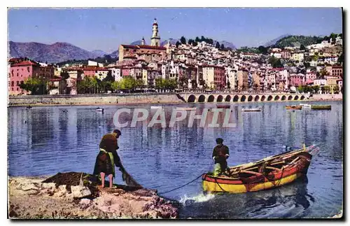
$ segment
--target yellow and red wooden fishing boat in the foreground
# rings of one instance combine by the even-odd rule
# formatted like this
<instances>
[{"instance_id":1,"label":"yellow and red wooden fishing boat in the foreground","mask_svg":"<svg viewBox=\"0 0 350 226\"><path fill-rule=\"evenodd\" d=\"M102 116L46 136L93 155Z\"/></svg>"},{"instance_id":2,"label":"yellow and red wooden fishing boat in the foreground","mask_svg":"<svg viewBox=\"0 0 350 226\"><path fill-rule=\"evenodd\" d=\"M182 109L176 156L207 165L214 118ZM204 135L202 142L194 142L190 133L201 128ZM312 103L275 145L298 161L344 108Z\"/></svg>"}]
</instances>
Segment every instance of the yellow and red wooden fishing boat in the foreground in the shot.
<instances>
[{"instance_id":1,"label":"yellow and red wooden fishing boat in the foreground","mask_svg":"<svg viewBox=\"0 0 350 226\"><path fill-rule=\"evenodd\" d=\"M231 167L223 175L203 174L204 192L255 192L292 183L303 175L318 152L316 146L266 157L258 162Z\"/></svg>"}]
</instances>

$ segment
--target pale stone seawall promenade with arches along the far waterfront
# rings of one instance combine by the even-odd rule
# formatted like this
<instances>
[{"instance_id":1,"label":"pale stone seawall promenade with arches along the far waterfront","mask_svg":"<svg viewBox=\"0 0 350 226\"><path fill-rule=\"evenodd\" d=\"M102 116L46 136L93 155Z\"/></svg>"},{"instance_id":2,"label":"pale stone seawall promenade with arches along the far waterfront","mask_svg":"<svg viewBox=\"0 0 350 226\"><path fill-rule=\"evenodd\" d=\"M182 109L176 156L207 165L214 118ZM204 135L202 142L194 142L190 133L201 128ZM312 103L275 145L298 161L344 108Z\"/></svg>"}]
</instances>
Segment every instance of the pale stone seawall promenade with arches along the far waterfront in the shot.
<instances>
[{"instance_id":1,"label":"pale stone seawall promenade with arches along the far waterfront","mask_svg":"<svg viewBox=\"0 0 350 226\"><path fill-rule=\"evenodd\" d=\"M208 94L207 94L208 95ZM216 96L220 94L216 94ZM224 97L234 94L222 94ZM342 100L342 94L314 94L312 97L309 95L304 95L304 99L248 99L249 94L244 94L247 96L243 101L241 98L237 101L242 102L265 102L265 101L335 101ZM252 94L253 95L253 94ZM260 94L261 96L262 94ZM265 94L268 97L269 94ZM286 94L287 95L287 94ZM302 94L293 94L293 97ZM127 104L181 104L189 101L188 97L190 94L176 94L176 93L141 93L141 94L78 94L78 95L36 95L36 96L10 96L8 98L8 106L50 106L50 105L127 105ZM232 96L234 97L234 96ZM283 96L282 96L283 97ZM205 102L211 102L206 99ZM212 102L222 102L222 103L234 103L235 99L225 99L219 100L215 98Z\"/></svg>"}]
</instances>

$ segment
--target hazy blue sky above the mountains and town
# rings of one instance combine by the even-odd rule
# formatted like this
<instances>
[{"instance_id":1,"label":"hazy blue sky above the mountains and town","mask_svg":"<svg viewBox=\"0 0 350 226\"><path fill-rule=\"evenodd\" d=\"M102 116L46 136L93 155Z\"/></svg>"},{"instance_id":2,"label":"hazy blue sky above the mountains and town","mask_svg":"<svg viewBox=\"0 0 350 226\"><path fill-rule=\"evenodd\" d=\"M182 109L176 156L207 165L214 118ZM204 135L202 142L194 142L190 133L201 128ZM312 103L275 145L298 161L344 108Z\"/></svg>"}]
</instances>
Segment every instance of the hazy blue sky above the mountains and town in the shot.
<instances>
[{"instance_id":1,"label":"hazy blue sky above the mountains and town","mask_svg":"<svg viewBox=\"0 0 350 226\"><path fill-rule=\"evenodd\" d=\"M27 8L8 10L8 39L111 52L142 36L151 43L154 17L162 41L204 35L237 47L258 46L282 34L342 32L340 8Z\"/></svg>"}]
</instances>

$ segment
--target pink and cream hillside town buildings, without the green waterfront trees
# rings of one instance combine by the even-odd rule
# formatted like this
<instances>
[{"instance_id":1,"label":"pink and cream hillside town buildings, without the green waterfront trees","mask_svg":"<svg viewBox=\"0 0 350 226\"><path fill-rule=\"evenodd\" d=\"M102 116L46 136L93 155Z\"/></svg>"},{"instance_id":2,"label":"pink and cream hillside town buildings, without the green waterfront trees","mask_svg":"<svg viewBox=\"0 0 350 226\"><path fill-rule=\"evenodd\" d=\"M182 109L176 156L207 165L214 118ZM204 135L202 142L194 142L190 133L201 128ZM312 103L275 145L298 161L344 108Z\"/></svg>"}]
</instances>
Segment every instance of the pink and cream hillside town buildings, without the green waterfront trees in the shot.
<instances>
[{"instance_id":1,"label":"pink and cream hillside town buildings, without the green waterfront trees","mask_svg":"<svg viewBox=\"0 0 350 226\"><path fill-rule=\"evenodd\" d=\"M87 65L67 64L63 67L24 59L10 59L8 64L9 94L27 94L20 83L31 76L48 78L57 87L50 94L77 94L76 84L86 76L103 80L111 76L120 81L126 76L142 80L144 87L155 87L155 79L175 79L183 90L227 90L230 92L289 92L300 85L335 86L342 90L342 38L299 47L272 48L268 55L218 49L204 41L197 45L176 47L167 41L160 45L158 22L153 22L151 45L142 38L140 45L120 45L115 64L89 61ZM274 68L269 57L280 59ZM307 66L305 66L307 62ZM68 78L62 78L62 72ZM322 90L320 90L322 92Z\"/></svg>"}]
</instances>

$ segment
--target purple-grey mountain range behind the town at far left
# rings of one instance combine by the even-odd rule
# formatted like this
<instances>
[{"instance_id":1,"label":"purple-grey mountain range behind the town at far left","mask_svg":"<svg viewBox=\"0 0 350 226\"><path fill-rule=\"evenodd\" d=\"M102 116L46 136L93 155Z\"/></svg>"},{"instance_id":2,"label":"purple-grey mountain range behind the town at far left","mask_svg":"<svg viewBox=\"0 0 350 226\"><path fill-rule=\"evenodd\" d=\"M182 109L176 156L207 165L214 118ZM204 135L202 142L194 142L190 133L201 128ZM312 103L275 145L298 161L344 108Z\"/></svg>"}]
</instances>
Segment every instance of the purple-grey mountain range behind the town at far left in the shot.
<instances>
[{"instance_id":1,"label":"purple-grey mountain range behind the town at far left","mask_svg":"<svg viewBox=\"0 0 350 226\"><path fill-rule=\"evenodd\" d=\"M8 42L10 57L28 57L38 62L56 63L69 59L89 59L98 57L93 52L83 50L70 43L17 43Z\"/></svg>"}]
</instances>

